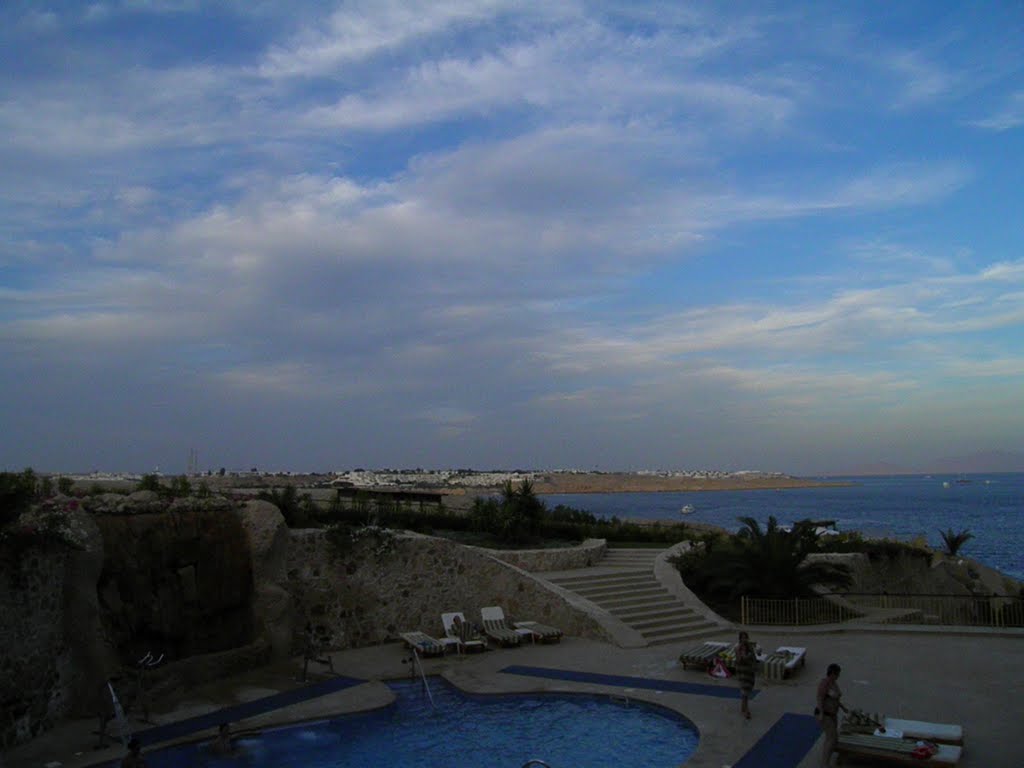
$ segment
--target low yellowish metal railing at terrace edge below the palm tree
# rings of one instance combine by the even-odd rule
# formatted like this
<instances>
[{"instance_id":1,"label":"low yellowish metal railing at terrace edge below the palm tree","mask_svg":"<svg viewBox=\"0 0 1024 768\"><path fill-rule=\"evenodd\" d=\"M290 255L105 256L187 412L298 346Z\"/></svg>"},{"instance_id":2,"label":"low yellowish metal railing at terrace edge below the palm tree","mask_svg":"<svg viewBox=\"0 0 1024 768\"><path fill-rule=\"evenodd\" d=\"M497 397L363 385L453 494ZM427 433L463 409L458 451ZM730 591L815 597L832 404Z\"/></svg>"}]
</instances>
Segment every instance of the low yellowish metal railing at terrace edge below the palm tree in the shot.
<instances>
[{"instance_id":1,"label":"low yellowish metal railing at terrace edge below the palm tree","mask_svg":"<svg viewBox=\"0 0 1024 768\"><path fill-rule=\"evenodd\" d=\"M1024 597L834 593L778 600L742 597L743 624L805 626L859 620L868 624L1024 627Z\"/></svg>"}]
</instances>

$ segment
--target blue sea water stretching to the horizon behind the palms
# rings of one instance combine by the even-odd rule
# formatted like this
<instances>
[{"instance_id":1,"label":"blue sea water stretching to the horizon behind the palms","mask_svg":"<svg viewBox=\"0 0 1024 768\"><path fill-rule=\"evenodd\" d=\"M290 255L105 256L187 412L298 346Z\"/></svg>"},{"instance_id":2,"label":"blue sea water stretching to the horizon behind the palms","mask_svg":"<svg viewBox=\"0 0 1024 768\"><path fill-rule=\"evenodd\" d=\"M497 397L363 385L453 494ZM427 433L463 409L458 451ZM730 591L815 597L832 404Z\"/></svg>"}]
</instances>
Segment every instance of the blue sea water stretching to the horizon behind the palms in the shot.
<instances>
[{"instance_id":1,"label":"blue sea water stretching to the horizon behind the palms","mask_svg":"<svg viewBox=\"0 0 1024 768\"><path fill-rule=\"evenodd\" d=\"M842 487L782 490L706 490L662 494L554 494L549 507L564 504L601 517L699 521L736 530L739 517L762 524L774 515L796 520L835 520L840 530L908 541L925 537L942 548L940 531L974 534L961 553L1024 580L1024 473L989 475L899 475L815 478ZM691 505L692 514L680 510Z\"/></svg>"}]
</instances>

